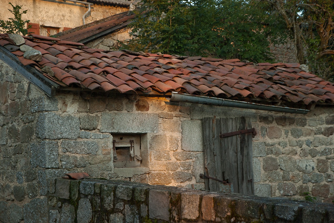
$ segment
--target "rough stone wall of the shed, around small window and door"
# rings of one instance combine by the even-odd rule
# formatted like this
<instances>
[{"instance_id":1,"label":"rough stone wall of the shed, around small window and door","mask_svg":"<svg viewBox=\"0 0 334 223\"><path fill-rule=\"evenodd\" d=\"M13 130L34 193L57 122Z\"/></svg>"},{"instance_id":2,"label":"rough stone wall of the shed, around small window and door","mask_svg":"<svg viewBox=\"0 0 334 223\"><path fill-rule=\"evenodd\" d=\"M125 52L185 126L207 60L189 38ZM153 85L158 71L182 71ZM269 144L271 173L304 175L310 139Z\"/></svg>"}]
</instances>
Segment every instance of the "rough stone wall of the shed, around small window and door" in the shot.
<instances>
[{"instance_id":1,"label":"rough stone wall of the shed, around small window and door","mask_svg":"<svg viewBox=\"0 0 334 223\"><path fill-rule=\"evenodd\" d=\"M213 115L252 118L256 195L304 200L308 192L317 201L334 200L332 107L299 115L120 94L58 92L49 98L4 63L0 200L22 213L24 204L53 193L54 178L67 172L204 189L201 119ZM141 135L141 167L114 168L114 133Z\"/></svg>"}]
</instances>

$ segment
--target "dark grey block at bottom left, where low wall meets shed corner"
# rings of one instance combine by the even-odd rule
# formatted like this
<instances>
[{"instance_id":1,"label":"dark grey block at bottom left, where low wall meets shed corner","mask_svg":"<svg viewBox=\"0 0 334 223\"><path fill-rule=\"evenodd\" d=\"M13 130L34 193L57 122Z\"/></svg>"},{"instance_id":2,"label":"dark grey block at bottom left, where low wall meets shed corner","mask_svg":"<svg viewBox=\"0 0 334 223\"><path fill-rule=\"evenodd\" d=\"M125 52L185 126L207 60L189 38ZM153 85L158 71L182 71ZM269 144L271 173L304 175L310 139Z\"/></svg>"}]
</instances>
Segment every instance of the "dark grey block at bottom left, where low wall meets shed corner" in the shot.
<instances>
[{"instance_id":1,"label":"dark grey block at bottom left, where low wall meets shed corner","mask_svg":"<svg viewBox=\"0 0 334 223\"><path fill-rule=\"evenodd\" d=\"M23 207L23 218L25 223L47 222L47 198L35 198Z\"/></svg>"}]
</instances>

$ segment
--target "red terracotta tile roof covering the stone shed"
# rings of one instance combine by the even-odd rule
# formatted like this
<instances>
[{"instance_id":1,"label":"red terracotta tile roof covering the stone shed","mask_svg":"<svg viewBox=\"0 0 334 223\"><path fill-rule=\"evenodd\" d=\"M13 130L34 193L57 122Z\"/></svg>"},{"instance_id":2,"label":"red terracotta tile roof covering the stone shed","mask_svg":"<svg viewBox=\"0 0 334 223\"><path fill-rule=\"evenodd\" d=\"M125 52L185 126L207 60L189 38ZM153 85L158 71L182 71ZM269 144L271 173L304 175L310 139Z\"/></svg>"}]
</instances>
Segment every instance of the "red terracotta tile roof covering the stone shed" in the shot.
<instances>
[{"instance_id":1,"label":"red terracotta tile roof covering the stone shed","mask_svg":"<svg viewBox=\"0 0 334 223\"><path fill-rule=\"evenodd\" d=\"M177 59L164 54L134 56L127 52L90 49L82 44L33 35L26 44L40 50L42 61L25 59L23 52L6 35L6 46L26 66L49 66L61 85L102 89L121 93L171 91L221 98L256 98L263 101L298 104L333 103L334 84L301 71L298 63L241 63L238 59L188 57ZM9 39L9 40L8 40ZM15 50L14 50L15 49Z\"/></svg>"}]
</instances>

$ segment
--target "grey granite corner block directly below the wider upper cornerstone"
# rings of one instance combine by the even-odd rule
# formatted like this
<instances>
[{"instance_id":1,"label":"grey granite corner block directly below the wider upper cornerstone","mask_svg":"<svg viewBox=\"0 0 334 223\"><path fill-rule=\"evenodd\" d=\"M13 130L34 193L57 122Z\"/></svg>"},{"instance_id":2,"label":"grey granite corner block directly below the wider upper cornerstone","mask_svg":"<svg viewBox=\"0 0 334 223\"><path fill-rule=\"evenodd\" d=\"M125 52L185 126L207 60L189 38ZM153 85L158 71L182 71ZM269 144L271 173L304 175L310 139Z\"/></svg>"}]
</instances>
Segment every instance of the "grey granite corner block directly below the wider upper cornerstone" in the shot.
<instances>
[{"instance_id":1,"label":"grey granite corner block directly below the wider upper cornerstone","mask_svg":"<svg viewBox=\"0 0 334 223\"><path fill-rule=\"evenodd\" d=\"M58 143L53 141L42 141L30 146L32 167L58 168Z\"/></svg>"}]
</instances>

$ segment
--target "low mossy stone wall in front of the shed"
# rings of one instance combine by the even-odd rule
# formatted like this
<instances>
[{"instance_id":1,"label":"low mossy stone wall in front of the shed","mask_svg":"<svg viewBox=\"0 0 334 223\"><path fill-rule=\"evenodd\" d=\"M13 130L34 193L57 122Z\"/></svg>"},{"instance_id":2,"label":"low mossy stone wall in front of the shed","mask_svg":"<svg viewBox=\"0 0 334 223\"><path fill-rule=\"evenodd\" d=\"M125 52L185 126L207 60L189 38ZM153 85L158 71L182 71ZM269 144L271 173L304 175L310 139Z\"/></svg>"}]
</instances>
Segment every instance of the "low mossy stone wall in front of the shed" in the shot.
<instances>
[{"instance_id":1,"label":"low mossy stone wall in front of the shed","mask_svg":"<svg viewBox=\"0 0 334 223\"><path fill-rule=\"evenodd\" d=\"M334 205L114 180L56 179L24 222L334 222ZM8 206L0 211L11 216ZM6 221L6 218L2 218Z\"/></svg>"}]
</instances>

